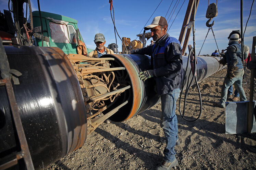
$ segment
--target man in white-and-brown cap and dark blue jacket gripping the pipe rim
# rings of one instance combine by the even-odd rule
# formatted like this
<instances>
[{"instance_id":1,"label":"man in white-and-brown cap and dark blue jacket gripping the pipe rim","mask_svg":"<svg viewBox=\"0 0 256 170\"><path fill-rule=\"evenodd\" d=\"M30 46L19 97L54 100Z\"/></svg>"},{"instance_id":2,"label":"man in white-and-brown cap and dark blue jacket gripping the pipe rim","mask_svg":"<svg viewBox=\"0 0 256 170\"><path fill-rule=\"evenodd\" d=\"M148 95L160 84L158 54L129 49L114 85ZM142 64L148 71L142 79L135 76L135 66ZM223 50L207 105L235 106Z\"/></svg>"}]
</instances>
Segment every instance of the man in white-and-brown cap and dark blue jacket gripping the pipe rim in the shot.
<instances>
[{"instance_id":1,"label":"man in white-and-brown cap and dark blue jacket gripping the pipe rim","mask_svg":"<svg viewBox=\"0 0 256 170\"><path fill-rule=\"evenodd\" d=\"M161 96L161 127L165 135L166 147L163 151L163 160L156 167L157 170L171 169L178 164L174 147L180 143L175 109L183 76L181 45L177 39L169 37L167 28L168 23L164 17L155 17L151 25L144 28L150 29L155 44L128 52L151 56L151 70L139 72L139 77L143 81L154 77L158 95Z\"/></svg>"}]
</instances>

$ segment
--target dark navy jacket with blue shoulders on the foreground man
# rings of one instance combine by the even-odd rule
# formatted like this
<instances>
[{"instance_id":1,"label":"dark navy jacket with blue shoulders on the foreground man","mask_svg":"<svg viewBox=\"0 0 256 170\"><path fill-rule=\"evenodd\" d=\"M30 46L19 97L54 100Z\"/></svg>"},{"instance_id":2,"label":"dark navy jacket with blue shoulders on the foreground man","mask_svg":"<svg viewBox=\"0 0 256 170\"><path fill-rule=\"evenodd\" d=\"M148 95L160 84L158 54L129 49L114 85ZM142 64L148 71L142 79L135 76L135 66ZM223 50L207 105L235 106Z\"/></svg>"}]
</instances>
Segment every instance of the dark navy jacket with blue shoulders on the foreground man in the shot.
<instances>
[{"instance_id":1,"label":"dark navy jacket with blue shoulders on the foreground man","mask_svg":"<svg viewBox=\"0 0 256 170\"><path fill-rule=\"evenodd\" d=\"M144 54L151 57L151 69L154 70L159 95L171 93L180 88L183 67L180 42L164 35L153 46L130 51L131 54Z\"/></svg>"}]
</instances>

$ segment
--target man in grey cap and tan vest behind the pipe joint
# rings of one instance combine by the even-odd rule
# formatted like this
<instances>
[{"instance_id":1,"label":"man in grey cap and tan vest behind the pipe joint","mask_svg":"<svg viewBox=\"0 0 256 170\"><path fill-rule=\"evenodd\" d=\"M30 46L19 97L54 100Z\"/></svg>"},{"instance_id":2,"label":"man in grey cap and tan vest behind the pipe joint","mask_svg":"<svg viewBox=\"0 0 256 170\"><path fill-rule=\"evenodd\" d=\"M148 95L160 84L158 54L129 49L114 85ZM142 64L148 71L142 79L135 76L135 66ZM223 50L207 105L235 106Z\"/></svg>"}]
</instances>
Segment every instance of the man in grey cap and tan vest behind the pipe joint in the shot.
<instances>
[{"instance_id":1,"label":"man in grey cap and tan vest behind the pipe joint","mask_svg":"<svg viewBox=\"0 0 256 170\"><path fill-rule=\"evenodd\" d=\"M94 37L94 43L96 44L96 49L88 54L88 57L99 58L103 54L114 54L112 49L106 48L104 45L106 43L105 37L102 33L97 33Z\"/></svg>"}]
</instances>

